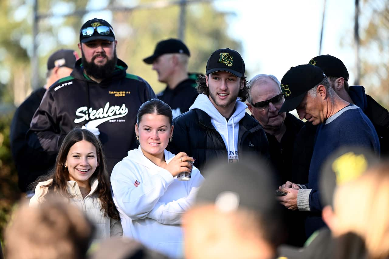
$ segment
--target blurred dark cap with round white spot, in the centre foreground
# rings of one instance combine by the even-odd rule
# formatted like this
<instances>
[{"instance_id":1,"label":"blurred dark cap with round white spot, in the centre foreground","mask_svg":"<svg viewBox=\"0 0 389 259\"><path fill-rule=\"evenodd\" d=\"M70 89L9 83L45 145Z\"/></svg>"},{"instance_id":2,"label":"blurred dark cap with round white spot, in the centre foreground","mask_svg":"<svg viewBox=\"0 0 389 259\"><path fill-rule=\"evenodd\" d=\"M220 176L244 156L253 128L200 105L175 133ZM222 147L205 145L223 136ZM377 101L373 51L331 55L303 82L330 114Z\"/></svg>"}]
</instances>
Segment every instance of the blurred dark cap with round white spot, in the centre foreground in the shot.
<instances>
[{"instance_id":1,"label":"blurred dark cap with round white spot, in the centre foreground","mask_svg":"<svg viewBox=\"0 0 389 259\"><path fill-rule=\"evenodd\" d=\"M200 187L196 205L212 204L222 212L246 209L259 215L280 216L275 184L268 165L258 158L237 163L214 161L206 170L207 180Z\"/></svg>"}]
</instances>

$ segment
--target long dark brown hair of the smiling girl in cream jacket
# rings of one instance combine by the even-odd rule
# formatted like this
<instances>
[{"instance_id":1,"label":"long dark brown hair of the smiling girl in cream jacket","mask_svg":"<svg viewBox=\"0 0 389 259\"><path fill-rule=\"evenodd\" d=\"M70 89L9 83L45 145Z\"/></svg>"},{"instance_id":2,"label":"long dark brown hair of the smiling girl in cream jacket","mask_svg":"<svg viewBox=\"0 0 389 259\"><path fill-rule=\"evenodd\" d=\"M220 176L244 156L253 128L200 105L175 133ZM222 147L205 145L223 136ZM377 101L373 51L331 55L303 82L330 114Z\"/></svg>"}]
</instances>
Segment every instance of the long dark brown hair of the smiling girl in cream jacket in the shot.
<instances>
[{"instance_id":1,"label":"long dark brown hair of the smiling girl in cream jacket","mask_svg":"<svg viewBox=\"0 0 389 259\"><path fill-rule=\"evenodd\" d=\"M48 191L58 193L64 197L72 198L72 195L67 191L67 181L70 180L70 178L69 171L65 168L65 162L70 148L81 140L90 142L96 148L99 166L96 168L91 177L96 177L98 180L97 194L101 202L101 209L104 210L105 216L108 214L108 216L112 219L120 220L119 212L117 211L111 196L110 178L105 164L102 144L100 140L93 135L93 133L86 129L76 127L70 131L68 135L66 135L60 147L60 151L58 152L53 171L49 175L43 177L46 180L53 179L53 182L48 185ZM35 182L37 183L38 181L42 181L44 179L40 178Z\"/></svg>"}]
</instances>

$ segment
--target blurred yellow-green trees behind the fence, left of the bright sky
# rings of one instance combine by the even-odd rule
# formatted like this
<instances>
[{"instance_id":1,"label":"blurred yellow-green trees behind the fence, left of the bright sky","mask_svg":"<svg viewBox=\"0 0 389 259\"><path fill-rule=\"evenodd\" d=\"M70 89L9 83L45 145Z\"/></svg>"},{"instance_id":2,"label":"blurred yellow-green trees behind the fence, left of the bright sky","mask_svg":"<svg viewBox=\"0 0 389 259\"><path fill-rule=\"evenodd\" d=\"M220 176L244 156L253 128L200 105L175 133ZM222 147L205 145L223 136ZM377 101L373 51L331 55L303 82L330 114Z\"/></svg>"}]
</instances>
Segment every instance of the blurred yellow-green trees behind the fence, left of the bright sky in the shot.
<instances>
[{"instance_id":1,"label":"blurred yellow-green trees behind the fence, left of the bright sky","mask_svg":"<svg viewBox=\"0 0 389 259\"><path fill-rule=\"evenodd\" d=\"M159 92L163 85L151 66L142 59L154 51L156 42L177 37L179 6L162 9L140 9L132 12L96 12L93 9L134 6L155 2L153 0L38 0L39 14L56 16L39 20L37 54L39 56L40 85L46 74L46 60L60 48L77 49L79 28L86 19L95 16L107 19L114 27L118 40L117 56L129 66L128 73L140 75ZM3 101L14 101L19 105L31 92L32 25L33 1L3 0L0 17L4 21L0 28L0 94ZM75 10L90 10L84 16L65 16ZM100 16L99 16L100 15ZM185 42L191 51L189 70L204 72L210 53L220 47L240 50L240 43L228 36L230 14L217 12L209 3L187 5ZM109 19L109 18L112 19ZM81 53L79 52L81 55Z\"/></svg>"}]
</instances>

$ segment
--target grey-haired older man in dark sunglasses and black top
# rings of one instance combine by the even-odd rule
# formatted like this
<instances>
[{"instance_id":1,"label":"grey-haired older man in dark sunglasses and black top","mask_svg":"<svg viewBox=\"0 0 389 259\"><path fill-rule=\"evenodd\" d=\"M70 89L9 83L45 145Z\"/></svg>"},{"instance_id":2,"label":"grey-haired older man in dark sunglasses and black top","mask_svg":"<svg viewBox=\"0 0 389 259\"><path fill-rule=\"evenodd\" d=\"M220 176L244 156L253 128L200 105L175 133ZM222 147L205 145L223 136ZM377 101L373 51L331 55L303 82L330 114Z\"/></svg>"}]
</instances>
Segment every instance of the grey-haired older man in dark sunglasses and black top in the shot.
<instances>
[{"instance_id":1,"label":"grey-haired older man in dark sunglasses and black top","mask_svg":"<svg viewBox=\"0 0 389 259\"><path fill-rule=\"evenodd\" d=\"M279 112L285 99L280 82L274 75L259 74L250 81L247 106L254 118L265 130L269 142L270 159L277 172L277 181L283 184L287 179L300 180L294 170L294 140L304 125L300 119L289 112ZM305 179L308 180L308 179ZM285 209L286 243L302 246L306 240L303 215L298 211Z\"/></svg>"}]
</instances>

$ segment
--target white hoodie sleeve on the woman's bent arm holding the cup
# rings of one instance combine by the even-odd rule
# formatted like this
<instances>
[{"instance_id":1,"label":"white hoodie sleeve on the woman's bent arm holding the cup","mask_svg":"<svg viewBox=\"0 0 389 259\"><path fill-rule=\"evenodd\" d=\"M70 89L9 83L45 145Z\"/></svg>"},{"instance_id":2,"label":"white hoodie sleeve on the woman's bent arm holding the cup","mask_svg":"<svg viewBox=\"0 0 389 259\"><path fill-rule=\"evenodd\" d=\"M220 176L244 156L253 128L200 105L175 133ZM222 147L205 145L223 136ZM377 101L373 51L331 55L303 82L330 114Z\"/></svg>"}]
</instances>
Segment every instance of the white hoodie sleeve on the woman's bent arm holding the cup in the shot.
<instances>
[{"instance_id":1,"label":"white hoodie sleeve on the woman's bent arm holding the cup","mask_svg":"<svg viewBox=\"0 0 389 259\"><path fill-rule=\"evenodd\" d=\"M143 170L128 161L117 163L112 170L111 186L116 206L132 220L144 219L173 182L172 174L163 168L156 174L142 173ZM138 187L134 185L135 180L140 181Z\"/></svg>"}]
</instances>

